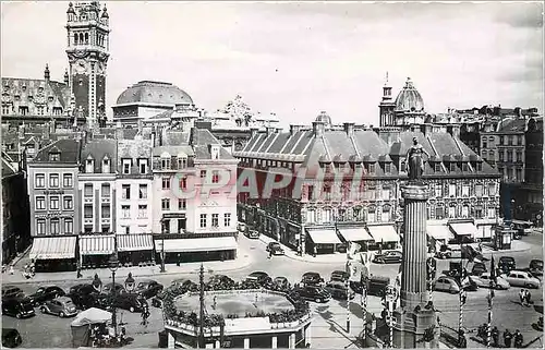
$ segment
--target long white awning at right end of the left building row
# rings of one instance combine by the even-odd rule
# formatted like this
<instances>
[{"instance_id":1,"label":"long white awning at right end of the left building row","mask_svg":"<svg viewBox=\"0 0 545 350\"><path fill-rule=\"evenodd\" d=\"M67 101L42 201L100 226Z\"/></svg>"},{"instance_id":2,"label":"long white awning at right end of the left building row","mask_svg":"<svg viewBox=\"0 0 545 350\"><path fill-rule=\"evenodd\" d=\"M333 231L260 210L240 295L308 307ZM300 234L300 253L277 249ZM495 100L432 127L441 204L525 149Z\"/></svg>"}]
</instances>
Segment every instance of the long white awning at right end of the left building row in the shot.
<instances>
[{"instance_id":1,"label":"long white awning at right end of the left building row","mask_svg":"<svg viewBox=\"0 0 545 350\"><path fill-rule=\"evenodd\" d=\"M165 253L232 251L238 246L234 237L155 240L155 250L159 253L162 251L162 242L165 242Z\"/></svg>"}]
</instances>

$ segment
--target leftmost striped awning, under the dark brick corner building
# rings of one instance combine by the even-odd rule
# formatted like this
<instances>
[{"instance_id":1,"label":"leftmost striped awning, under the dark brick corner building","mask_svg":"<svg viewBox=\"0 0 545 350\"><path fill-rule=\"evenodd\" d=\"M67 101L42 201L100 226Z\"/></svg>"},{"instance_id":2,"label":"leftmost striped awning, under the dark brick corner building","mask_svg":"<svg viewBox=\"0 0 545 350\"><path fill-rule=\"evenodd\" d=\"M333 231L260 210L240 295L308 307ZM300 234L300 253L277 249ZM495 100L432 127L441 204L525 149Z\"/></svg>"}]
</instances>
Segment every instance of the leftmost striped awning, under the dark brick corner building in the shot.
<instances>
[{"instance_id":1,"label":"leftmost striped awning, under the dark brick corner building","mask_svg":"<svg viewBox=\"0 0 545 350\"><path fill-rule=\"evenodd\" d=\"M34 260L74 258L75 242L73 237L36 237L28 257Z\"/></svg>"}]
</instances>

